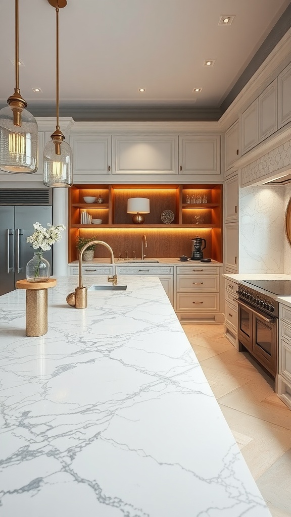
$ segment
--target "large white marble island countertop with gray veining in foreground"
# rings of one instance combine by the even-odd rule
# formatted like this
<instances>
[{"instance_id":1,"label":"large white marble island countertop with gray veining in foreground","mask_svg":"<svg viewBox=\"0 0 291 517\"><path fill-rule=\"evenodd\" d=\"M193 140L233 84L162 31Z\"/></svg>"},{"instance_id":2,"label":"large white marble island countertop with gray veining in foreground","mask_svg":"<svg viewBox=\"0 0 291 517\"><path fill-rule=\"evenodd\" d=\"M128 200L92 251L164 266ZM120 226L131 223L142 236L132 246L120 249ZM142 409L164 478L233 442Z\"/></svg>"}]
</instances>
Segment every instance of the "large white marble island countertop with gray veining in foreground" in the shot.
<instances>
[{"instance_id":1,"label":"large white marble island countertop with gray veining in foreground","mask_svg":"<svg viewBox=\"0 0 291 517\"><path fill-rule=\"evenodd\" d=\"M58 278L39 338L0 297L0 513L270 517L161 283L122 283L75 309Z\"/></svg>"}]
</instances>

